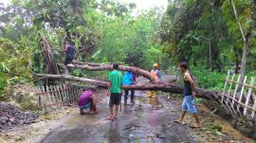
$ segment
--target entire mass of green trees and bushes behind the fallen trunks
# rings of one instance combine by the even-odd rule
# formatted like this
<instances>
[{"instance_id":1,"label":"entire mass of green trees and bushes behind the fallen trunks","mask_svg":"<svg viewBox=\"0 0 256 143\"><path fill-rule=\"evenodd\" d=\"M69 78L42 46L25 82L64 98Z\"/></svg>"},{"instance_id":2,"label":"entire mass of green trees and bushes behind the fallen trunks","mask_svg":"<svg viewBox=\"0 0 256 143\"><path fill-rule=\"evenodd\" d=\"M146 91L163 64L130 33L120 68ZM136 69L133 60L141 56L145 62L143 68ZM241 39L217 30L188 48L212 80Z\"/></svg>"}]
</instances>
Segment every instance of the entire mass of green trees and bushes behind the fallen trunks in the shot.
<instances>
[{"instance_id":1,"label":"entire mass of green trees and bushes behind the fallen trunks","mask_svg":"<svg viewBox=\"0 0 256 143\"><path fill-rule=\"evenodd\" d=\"M40 35L63 63L71 39L79 60L174 69L187 61L200 86L220 89L228 69L255 75L256 13L253 0L174 0L168 8L133 12L114 0L13 0L0 5L0 95L9 84L46 73ZM237 12L235 17L234 8ZM241 28L239 28L241 26ZM246 64L243 64L246 62ZM76 76L86 76L74 70ZM218 77L218 78L215 78Z\"/></svg>"}]
</instances>

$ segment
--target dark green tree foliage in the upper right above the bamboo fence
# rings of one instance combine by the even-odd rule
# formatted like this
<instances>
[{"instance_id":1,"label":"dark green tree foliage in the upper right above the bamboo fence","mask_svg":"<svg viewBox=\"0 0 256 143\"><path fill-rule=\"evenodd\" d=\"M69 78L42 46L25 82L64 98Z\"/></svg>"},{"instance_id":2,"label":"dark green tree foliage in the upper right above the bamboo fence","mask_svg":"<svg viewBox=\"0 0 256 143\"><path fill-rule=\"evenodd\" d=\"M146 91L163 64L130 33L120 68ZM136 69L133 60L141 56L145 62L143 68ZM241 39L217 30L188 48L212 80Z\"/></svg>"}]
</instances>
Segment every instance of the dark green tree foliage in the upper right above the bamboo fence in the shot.
<instances>
[{"instance_id":1,"label":"dark green tree foliage in the upper right above the bamboo fence","mask_svg":"<svg viewBox=\"0 0 256 143\"><path fill-rule=\"evenodd\" d=\"M250 31L255 31L255 5L250 0L235 1L235 5L242 27L251 36ZM211 59L213 69L221 72L229 64L241 63L243 39L229 0L170 1L161 29L164 52L176 63L187 61L209 69ZM249 43L249 70L256 67L252 62L256 58L254 41L255 36Z\"/></svg>"}]
</instances>

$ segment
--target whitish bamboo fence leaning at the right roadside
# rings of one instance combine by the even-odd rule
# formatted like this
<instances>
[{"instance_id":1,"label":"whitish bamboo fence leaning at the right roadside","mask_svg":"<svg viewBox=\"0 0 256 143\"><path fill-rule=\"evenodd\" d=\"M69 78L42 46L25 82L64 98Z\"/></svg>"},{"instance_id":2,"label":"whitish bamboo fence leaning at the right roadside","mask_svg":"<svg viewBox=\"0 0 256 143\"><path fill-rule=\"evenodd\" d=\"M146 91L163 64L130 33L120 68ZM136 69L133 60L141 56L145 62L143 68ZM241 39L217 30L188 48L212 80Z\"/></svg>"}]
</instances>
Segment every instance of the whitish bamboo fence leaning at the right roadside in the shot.
<instances>
[{"instance_id":1,"label":"whitish bamboo fence leaning at the right roadside","mask_svg":"<svg viewBox=\"0 0 256 143\"><path fill-rule=\"evenodd\" d=\"M255 77L228 74L224 84L221 102L235 115L255 118Z\"/></svg>"}]
</instances>

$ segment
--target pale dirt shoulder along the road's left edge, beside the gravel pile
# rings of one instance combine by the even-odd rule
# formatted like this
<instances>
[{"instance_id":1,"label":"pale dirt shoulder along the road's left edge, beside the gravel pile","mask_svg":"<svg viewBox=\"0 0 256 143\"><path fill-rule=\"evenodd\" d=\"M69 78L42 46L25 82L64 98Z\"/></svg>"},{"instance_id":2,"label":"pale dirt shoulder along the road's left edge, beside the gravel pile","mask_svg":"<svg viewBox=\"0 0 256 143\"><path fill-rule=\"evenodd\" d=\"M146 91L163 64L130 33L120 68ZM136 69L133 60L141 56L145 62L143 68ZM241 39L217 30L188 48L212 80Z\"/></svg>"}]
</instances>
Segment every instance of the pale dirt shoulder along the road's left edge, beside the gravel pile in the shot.
<instances>
[{"instance_id":1,"label":"pale dirt shoulder along the road's left edge, beside the gravel pile","mask_svg":"<svg viewBox=\"0 0 256 143\"><path fill-rule=\"evenodd\" d=\"M55 112L40 116L39 122L13 128L0 134L1 143L39 142L51 130L60 126L77 111L75 106L63 107Z\"/></svg>"}]
</instances>

